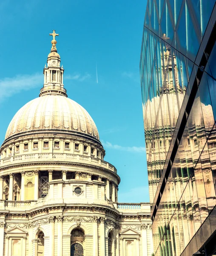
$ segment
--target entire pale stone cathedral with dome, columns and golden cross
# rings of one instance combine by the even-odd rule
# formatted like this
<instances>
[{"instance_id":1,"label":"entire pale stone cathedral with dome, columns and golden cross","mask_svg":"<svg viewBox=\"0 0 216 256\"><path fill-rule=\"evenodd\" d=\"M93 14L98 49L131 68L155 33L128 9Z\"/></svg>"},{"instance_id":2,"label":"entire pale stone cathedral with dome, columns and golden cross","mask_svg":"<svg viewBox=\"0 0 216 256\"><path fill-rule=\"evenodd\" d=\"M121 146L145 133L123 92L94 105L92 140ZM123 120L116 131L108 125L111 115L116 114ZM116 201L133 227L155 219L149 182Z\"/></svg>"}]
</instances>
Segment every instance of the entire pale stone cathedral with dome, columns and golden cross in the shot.
<instances>
[{"instance_id":1,"label":"entire pale stone cathedral with dome, columns and golden cross","mask_svg":"<svg viewBox=\"0 0 216 256\"><path fill-rule=\"evenodd\" d=\"M0 148L0 256L151 256L150 204L118 203L91 116L67 98L55 32L44 87Z\"/></svg>"}]
</instances>

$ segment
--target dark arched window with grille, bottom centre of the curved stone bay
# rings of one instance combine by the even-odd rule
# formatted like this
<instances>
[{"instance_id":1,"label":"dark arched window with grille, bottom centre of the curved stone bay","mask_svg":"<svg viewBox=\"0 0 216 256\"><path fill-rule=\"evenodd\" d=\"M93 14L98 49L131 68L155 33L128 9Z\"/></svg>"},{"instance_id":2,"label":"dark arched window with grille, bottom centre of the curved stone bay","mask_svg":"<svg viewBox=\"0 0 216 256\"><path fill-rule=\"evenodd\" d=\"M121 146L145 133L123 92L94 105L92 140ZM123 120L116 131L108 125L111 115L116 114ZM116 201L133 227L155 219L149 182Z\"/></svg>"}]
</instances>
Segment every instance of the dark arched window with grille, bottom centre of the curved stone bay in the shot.
<instances>
[{"instance_id":1,"label":"dark arched window with grille, bottom centre of the curved stone bay","mask_svg":"<svg viewBox=\"0 0 216 256\"><path fill-rule=\"evenodd\" d=\"M85 233L80 228L75 228L71 231L71 256L83 256L83 243Z\"/></svg>"}]
</instances>

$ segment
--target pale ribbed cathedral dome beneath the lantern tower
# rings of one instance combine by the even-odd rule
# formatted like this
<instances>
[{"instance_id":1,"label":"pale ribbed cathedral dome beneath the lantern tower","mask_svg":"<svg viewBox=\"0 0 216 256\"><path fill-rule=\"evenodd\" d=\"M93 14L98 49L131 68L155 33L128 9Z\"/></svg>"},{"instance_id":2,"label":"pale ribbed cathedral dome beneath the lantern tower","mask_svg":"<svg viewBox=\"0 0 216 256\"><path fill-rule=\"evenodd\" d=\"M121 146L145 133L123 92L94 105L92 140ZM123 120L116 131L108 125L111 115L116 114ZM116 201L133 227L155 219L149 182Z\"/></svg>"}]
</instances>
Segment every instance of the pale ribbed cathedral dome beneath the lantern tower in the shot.
<instances>
[{"instance_id":1,"label":"pale ribbed cathedral dome beneath the lantern tower","mask_svg":"<svg viewBox=\"0 0 216 256\"><path fill-rule=\"evenodd\" d=\"M39 130L74 131L99 140L97 127L89 113L77 102L61 95L43 95L20 108L11 120L5 138Z\"/></svg>"}]
</instances>

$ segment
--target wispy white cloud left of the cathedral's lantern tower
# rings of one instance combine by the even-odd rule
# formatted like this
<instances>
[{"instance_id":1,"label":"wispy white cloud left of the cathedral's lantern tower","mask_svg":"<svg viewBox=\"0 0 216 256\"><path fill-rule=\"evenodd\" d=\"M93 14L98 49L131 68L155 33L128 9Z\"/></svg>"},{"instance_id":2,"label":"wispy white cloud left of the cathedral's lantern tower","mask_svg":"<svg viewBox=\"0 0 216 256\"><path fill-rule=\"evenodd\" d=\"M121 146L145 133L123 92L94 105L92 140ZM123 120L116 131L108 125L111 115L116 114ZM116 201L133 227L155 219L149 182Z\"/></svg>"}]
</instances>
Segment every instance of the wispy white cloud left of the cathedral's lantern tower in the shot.
<instances>
[{"instance_id":1,"label":"wispy white cloud left of the cathedral's lantern tower","mask_svg":"<svg viewBox=\"0 0 216 256\"><path fill-rule=\"evenodd\" d=\"M17 75L0 80L0 100L10 97L22 90L31 90L35 87L43 87L43 75Z\"/></svg>"}]
</instances>

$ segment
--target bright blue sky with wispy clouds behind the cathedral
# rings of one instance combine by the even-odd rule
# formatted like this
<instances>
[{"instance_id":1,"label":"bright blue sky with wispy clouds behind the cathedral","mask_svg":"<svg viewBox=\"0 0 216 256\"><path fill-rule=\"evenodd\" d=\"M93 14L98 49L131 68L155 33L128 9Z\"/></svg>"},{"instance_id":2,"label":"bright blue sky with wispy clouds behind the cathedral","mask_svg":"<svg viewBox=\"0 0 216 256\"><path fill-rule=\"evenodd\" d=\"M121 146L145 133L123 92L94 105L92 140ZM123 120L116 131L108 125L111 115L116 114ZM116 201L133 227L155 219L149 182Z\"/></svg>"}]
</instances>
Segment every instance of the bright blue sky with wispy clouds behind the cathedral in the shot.
<instances>
[{"instance_id":1,"label":"bright blue sky with wispy clouds behind the cathedral","mask_svg":"<svg viewBox=\"0 0 216 256\"><path fill-rule=\"evenodd\" d=\"M105 160L121 177L119 202L149 201L139 81L145 8L146 0L1 0L0 143L43 87L55 29L68 97L97 125Z\"/></svg>"}]
</instances>

